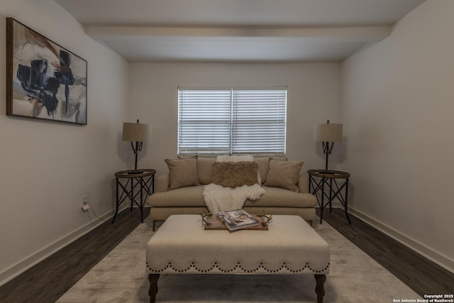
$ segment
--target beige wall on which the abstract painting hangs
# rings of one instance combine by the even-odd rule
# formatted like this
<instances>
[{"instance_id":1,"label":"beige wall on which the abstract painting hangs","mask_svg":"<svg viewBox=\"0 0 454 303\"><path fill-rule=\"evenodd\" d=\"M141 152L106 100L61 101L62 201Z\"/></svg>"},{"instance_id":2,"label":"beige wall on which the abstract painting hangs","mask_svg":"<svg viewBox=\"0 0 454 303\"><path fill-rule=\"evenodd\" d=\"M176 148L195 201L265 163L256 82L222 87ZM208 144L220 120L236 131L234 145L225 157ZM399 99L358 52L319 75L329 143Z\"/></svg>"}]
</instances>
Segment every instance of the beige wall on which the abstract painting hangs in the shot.
<instances>
[{"instance_id":1,"label":"beige wall on which the abstract painting hangs","mask_svg":"<svg viewBox=\"0 0 454 303\"><path fill-rule=\"evenodd\" d=\"M99 224L114 209L113 177L129 150L119 138L128 114L128 63L84 35L51 0L0 0L0 96L5 99L6 17L88 61L88 125L6 116L0 106L0 285ZM90 221L94 221L91 224Z\"/></svg>"}]
</instances>

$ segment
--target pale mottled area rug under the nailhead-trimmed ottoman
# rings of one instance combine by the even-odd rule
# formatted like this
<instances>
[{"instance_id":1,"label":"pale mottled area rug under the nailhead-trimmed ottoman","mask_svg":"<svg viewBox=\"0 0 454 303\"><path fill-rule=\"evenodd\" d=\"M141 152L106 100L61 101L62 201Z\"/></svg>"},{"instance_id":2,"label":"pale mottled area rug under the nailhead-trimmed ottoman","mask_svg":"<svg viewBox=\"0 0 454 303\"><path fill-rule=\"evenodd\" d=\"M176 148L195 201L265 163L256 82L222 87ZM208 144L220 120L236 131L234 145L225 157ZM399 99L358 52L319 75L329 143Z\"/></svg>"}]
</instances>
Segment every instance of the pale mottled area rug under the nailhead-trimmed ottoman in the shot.
<instances>
[{"instance_id":1,"label":"pale mottled area rug under the nailhead-trimmed ottoman","mask_svg":"<svg viewBox=\"0 0 454 303\"><path fill-rule=\"evenodd\" d=\"M145 220L57 302L149 302ZM324 302L421 299L326 222L314 229L331 248ZM313 275L161 275L157 302L316 302Z\"/></svg>"}]
</instances>

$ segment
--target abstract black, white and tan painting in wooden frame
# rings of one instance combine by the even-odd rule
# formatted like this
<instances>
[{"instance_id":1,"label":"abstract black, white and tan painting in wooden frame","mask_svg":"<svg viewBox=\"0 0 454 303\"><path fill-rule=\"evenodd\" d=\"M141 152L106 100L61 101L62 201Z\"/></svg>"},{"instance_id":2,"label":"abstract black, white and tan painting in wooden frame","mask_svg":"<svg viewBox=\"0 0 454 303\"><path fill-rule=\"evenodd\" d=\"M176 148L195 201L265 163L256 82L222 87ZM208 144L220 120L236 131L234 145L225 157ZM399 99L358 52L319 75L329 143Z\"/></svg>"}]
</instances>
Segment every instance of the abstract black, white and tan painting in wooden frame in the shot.
<instances>
[{"instance_id":1,"label":"abstract black, white and tan painting in wooden frame","mask_svg":"<svg viewBox=\"0 0 454 303\"><path fill-rule=\"evenodd\" d=\"M6 115L87 124L87 61L6 18Z\"/></svg>"}]
</instances>

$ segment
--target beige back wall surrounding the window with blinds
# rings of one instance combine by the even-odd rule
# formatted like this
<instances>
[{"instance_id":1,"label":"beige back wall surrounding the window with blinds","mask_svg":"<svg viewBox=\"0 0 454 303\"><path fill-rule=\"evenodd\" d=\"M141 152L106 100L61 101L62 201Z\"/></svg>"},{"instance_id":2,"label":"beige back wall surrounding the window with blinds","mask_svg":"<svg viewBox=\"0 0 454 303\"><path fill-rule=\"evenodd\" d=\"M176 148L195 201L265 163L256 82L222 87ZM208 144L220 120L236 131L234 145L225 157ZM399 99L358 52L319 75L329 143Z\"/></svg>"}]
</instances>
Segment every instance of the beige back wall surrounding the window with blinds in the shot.
<instances>
[{"instance_id":1,"label":"beige back wall surrounding the window with blinds","mask_svg":"<svg viewBox=\"0 0 454 303\"><path fill-rule=\"evenodd\" d=\"M287 85L287 157L304 160L303 170L323 168L315 123L339 121L340 64L131 64L133 119L153 125L139 166L167 171L165 158L177 156L177 87ZM340 155L340 153L339 153ZM333 157L332 166L341 161Z\"/></svg>"}]
</instances>

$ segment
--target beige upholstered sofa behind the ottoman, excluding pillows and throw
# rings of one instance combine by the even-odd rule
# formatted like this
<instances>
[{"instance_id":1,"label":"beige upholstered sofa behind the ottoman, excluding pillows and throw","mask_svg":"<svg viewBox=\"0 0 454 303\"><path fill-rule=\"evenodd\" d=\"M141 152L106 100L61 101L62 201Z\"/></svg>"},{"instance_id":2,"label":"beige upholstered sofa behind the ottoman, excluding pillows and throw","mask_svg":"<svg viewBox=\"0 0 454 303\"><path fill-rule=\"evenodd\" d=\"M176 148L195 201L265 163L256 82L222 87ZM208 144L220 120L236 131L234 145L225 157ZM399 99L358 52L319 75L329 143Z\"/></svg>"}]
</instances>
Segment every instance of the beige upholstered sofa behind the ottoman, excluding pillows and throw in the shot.
<instances>
[{"instance_id":1,"label":"beige upholstered sofa behind the ottoman, excluding pillows and throw","mask_svg":"<svg viewBox=\"0 0 454 303\"><path fill-rule=\"evenodd\" d=\"M171 180L175 178L175 170L170 174L160 175L156 178L155 194L148 198L148 204L151 206L150 219L153 220L153 230L157 221L164 221L172 214L199 214L202 211L208 211L202 193L204 192L204 185L213 182L213 167L216 159L196 158L194 161L196 163L193 166L194 172L191 169L188 172L187 168L184 172L180 172L184 175L180 176L182 180L190 180L195 177L196 180L192 184L183 184L186 186L175 188L175 182ZM270 166L274 167L272 172L275 174L277 164L280 165L284 162L270 158L255 158L254 161L258 164L260 181L262 188L265 189L265 194L254 201L246 200L243 209L250 214L262 214L262 211L265 211L266 214L298 215L312 224L316 216L317 200L313 194L309 194L309 179L299 175L298 171L294 181L296 185L293 188L294 190L279 187L286 186L286 184L267 186L270 183L267 182ZM167 164L170 165L170 162L167 162ZM172 170L172 167L170 169ZM271 176L270 174L269 179L271 180L272 177L279 176Z\"/></svg>"}]
</instances>

